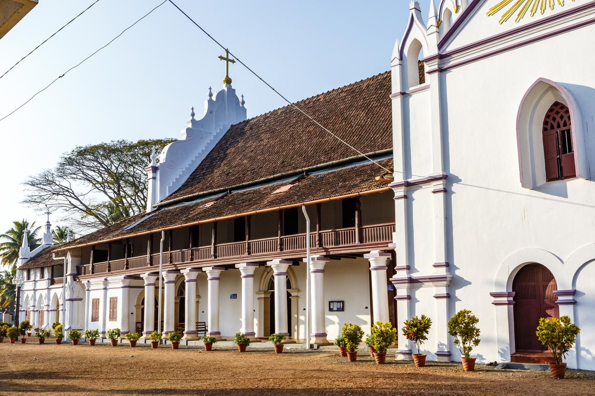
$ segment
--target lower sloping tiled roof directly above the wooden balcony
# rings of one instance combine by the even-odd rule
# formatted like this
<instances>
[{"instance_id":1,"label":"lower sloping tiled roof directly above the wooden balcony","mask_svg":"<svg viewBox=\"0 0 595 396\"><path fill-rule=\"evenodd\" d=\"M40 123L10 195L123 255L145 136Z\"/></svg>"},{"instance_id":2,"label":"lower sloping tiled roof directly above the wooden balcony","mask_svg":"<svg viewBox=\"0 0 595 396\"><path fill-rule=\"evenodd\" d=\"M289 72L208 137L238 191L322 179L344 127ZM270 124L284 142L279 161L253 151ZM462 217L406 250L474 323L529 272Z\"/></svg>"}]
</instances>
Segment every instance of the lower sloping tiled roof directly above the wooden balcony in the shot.
<instances>
[{"instance_id":1,"label":"lower sloping tiled roof directly above the wooden balcony","mask_svg":"<svg viewBox=\"0 0 595 396\"><path fill-rule=\"evenodd\" d=\"M392 159L379 160L378 163L387 168L392 167ZM120 223L82 236L61 248L95 244L187 224L206 223L222 217L246 216L250 213L277 210L281 206L299 205L376 189L388 190L386 182L375 180L376 176L383 173L386 172L377 164L361 161L351 166L296 176L291 180L259 188L231 191L196 202L165 207L150 215L139 214L127 218Z\"/></svg>"}]
</instances>

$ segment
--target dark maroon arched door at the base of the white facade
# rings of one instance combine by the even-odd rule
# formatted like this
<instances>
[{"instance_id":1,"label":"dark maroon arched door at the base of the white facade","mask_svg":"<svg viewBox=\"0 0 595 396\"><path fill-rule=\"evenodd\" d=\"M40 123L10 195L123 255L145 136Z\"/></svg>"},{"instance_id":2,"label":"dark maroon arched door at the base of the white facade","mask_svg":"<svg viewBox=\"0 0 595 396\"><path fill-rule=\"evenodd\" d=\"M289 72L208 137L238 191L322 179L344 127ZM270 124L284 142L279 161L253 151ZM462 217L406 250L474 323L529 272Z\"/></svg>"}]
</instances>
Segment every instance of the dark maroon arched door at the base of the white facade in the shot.
<instances>
[{"instance_id":1,"label":"dark maroon arched door at the base of the white facade","mask_svg":"<svg viewBox=\"0 0 595 396\"><path fill-rule=\"evenodd\" d=\"M553 274L544 265L528 264L521 268L512 281L515 292L513 306L515 318L515 349L517 352L543 351L543 344L535 334L540 318L559 318L558 285Z\"/></svg>"}]
</instances>

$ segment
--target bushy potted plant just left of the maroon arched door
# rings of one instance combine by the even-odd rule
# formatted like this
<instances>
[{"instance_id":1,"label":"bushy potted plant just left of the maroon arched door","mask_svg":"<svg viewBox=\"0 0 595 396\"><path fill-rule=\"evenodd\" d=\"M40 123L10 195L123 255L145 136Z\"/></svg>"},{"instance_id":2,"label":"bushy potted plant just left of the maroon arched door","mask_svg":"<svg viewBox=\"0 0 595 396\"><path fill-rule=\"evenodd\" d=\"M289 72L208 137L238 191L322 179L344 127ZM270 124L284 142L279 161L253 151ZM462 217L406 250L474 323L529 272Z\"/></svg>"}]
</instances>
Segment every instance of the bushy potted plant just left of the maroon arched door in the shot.
<instances>
[{"instance_id":1,"label":"bushy potted plant just left of the maroon arched door","mask_svg":"<svg viewBox=\"0 0 595 396\"><path fill-rule=\"evenodd\" d=\"M474 347L480 344L480 319L468 309L462 309L448 321L448 333L455 337L455 345L461 351L465 371L475 370L475 357L469 357Z\"/></svg>"}]
</instances>

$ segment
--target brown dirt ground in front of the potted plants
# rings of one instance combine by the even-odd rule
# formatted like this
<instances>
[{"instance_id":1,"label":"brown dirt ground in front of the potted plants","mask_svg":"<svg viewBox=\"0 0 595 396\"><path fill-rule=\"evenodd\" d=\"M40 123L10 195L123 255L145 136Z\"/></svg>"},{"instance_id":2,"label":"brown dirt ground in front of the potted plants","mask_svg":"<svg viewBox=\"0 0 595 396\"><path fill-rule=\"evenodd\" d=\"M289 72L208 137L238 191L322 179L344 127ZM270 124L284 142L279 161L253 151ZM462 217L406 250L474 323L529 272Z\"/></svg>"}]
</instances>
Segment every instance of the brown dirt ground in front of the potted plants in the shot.
<instances>
[{"instance_id":1,"label":"brown dirt ground in front of the potted plants","mask_svg":"<svg viewBox=\"0 0 595 396\"><path fill-rule=\"evenodd\" d=\"M36 341L36 340L30 340ZM230 348L152 350L125 344L0 344L0 395L593 395L595 374L496 370L458 363L375 365L359 352L349 363L334 350Z\"/></svg>"}]
</instances>

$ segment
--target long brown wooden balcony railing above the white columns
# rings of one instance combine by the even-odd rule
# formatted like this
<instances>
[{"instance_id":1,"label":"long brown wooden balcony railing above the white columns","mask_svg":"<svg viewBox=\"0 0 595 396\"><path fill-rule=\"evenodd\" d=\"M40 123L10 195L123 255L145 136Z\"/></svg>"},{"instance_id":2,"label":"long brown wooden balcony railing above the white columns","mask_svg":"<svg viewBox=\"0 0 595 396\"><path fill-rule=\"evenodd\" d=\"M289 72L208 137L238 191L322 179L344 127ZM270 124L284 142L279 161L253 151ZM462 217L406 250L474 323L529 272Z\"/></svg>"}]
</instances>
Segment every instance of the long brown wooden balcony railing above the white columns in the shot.
<instances>
[{"instance_id":1,"label":"long brown wooden balcony railing above the white columns","mask_svg":"<svg viewBox=\"0 0 595 396\"><path fill-rule=\"evenodd\" d=\"M337 248L358 245L374 245L392 242L394 223L374 224L372 226L349 227L337 230L324 230L310 233L312 249ZM296 252L306 250L306 234L270 237L264 239L243 240L241 242L218 243L214 246L181 249L163 252L163 264L187 264L224 258L242 258L253 255L267 255L278 252ZM79 265L80 276L109 273L114 271L135 270L159 265L159 254L123 258L94 264Z\"/></svg>"}]
</instances>

